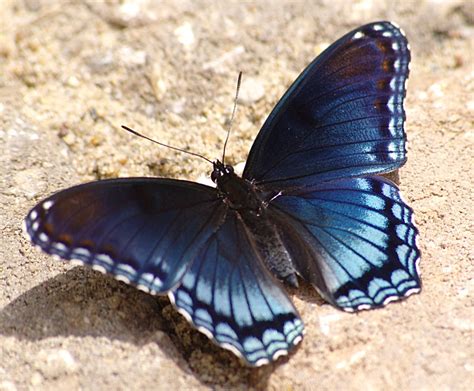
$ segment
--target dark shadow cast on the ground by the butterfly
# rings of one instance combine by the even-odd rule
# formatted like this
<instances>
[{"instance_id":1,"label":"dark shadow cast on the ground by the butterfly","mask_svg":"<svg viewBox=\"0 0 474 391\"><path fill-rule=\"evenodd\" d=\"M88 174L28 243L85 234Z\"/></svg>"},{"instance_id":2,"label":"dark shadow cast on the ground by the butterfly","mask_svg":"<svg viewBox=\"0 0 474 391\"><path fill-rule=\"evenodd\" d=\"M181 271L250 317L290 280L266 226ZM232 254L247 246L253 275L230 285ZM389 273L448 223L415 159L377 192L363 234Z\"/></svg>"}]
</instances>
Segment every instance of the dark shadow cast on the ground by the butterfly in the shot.
<instances>
[{"instance_id":1,"label":"dark shadow cast on the ground by the butterfly","mask_svg":"<svg viewBox=\"0 0 474 391\"><path fill-rule=\"evenodd\" d=\"M95 337L144 346L157 343L180 367L211 386L265 389L274 369L250 368L196 331L171 306L93 270L75 267L31 288L0 311L0 334L38 341ZM167 338L163 338L163 335Z\"/></svg>"}]
</instances>

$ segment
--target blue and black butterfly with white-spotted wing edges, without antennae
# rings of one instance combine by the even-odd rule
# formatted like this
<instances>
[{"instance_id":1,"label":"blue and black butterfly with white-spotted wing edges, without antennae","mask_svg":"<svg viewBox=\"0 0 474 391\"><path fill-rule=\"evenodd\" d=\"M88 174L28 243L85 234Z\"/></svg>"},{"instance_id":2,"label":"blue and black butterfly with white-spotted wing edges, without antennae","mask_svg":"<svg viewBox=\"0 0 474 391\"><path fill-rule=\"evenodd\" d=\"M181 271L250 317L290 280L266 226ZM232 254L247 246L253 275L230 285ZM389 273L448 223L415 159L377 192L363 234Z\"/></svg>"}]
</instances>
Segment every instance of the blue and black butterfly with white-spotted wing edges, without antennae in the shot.
<instances>
[{"instance_id":1,"label":"blue and black butterfly with white-spotted wing edges, without antennae","mask_svg":"<svg viewBox=\"0 0 474 391\"><path fill-rule=\"evenodd\" d=\"M59 191L25 230L53 256L171 303L251 366L287 354L304 325L284 285L311 284L349 312L421 290L413 211L379 174L406 161L410 51L393 23L329 46L283 95L242 177L212 162L216 187L166 178Z\"/></svg>"}]
</instances>

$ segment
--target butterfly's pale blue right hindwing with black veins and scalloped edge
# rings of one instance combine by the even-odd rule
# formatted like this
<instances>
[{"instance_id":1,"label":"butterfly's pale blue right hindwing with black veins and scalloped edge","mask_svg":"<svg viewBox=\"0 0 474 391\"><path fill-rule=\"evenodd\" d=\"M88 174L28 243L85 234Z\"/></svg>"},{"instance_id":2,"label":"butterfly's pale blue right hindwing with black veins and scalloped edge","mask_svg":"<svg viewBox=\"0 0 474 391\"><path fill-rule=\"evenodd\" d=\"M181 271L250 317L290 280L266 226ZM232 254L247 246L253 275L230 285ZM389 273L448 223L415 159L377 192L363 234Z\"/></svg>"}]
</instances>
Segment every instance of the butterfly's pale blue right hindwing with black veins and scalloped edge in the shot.
<instances>
[{"instance_id":1,"label":"butterfly's pale blue right hindwing with black veins and scalloped edge","mask_svg":"<svg viewBox=\"0 0 474 391\"><path fill-rule=\"evenodd\" d=\"M289 191L270 211L298 273L346 311L419 292L413 211L379 177L338 179Z\"/></svg>"}]
</instances>

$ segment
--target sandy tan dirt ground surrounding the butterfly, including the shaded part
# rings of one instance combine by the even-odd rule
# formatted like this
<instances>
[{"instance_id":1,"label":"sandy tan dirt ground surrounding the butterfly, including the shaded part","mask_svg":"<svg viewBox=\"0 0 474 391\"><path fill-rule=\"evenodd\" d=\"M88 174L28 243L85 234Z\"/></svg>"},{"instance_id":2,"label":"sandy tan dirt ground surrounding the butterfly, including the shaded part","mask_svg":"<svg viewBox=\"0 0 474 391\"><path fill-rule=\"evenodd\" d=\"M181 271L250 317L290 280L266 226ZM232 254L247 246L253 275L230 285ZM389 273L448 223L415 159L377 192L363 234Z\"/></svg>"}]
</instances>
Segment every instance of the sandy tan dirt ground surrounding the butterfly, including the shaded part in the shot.
<instances>
[{"instance_id":1,"label":"sandy tan dirt ground surrounding the butterfly, including the shaded part","mask_svg":"<svg viewBox=\"0 0 474 391\"><path fill-rule=\"evenodd\" d=\"M0 0L0 390L463 390L474 383L472 1ZM209 165L120 130L220 156L258 129L304 66L389 19L412 48L409 160L424 289L356 315L292 292L306 336L249 369L156 299L33 250L25 214L53 191L126 176L196 179Z\"/></svg>"}]
</instances>

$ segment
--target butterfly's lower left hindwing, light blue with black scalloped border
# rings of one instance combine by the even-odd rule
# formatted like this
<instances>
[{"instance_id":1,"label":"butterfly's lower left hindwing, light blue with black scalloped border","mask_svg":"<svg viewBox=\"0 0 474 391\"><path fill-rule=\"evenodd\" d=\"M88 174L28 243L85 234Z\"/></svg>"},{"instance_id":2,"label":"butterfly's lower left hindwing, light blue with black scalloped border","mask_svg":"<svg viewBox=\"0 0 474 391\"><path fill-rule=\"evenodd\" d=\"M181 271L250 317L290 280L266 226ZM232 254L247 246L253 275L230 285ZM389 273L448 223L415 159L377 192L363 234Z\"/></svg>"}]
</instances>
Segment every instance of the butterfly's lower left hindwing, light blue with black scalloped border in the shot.
<instances>
[{"instance_id":1,"label":"butterfly's lower left hindwing, light blue with black scalloped border","mask_svg":"<svg viewBox=\"0 0 474 391\"><path fill-rule=\"evenodd\" d=\"M230 209L169 296L198 330L253 366L287 354L302 338L293 304Z\"/></svg>"}]
</instances>

